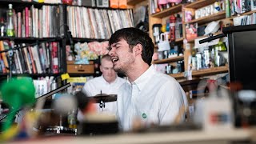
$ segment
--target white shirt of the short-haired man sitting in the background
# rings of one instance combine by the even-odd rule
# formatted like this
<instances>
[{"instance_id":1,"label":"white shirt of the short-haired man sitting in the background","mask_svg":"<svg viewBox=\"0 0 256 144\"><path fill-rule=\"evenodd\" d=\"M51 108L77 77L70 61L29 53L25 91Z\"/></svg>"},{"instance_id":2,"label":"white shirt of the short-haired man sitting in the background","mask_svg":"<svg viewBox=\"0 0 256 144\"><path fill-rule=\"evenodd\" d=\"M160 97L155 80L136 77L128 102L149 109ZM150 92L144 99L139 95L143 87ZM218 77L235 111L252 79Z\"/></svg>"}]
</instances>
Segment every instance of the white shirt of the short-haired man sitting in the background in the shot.
<instances>
[{"instance_id":1,"label":"white shirt of the short-haired man sitting in the background","mask_svg":"<svg viewBox=\"0 0 256 144\"><path fill-rule=\"evenodd\" d=\"M103 76L93 78L86 82L82 88L82 92L87 94L88 97L94 97L97 94L118 94L119 87L126 82L125 79L117 77L114 82L106 82ZM116 114L117 102L105 102L105 108L101 109L99 103L95 104L98 108L98 112L107 114Z\"/></svg>"}]
</instances>

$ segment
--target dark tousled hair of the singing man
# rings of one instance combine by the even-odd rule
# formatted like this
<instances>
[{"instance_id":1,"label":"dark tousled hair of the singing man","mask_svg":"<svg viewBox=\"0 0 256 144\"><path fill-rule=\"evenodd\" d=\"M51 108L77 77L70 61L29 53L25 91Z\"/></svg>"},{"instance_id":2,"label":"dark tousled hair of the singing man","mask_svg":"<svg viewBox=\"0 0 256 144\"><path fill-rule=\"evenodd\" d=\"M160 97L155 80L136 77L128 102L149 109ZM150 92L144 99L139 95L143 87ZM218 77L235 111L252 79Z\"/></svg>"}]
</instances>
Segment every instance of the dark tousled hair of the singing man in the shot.
<instances>
[{"instance_id":1,"label":"dark tousled hair of the singing man","mask_svg":"<svg viewBox=\"0 0 256 144\"><path fill-rule=\"evenodd\" d=\"M134 27L123 28L111 35L110 46L119 42L122 38L129 44L130 50L140 43L142 45L142 59L149 66L151 65L152 56L154 54L154 43L148 34Z\"/></svg>"}]
</instances>

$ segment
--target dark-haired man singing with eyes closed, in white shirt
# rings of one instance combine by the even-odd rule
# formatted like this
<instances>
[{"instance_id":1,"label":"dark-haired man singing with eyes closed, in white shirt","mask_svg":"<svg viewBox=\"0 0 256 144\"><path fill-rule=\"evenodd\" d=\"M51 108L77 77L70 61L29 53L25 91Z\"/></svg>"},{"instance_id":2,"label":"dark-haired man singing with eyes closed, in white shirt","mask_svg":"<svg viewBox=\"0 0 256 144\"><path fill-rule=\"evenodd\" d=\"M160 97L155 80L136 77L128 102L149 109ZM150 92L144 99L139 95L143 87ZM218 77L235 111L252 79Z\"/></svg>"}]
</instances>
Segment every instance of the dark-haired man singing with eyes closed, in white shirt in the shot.
<instances>
[{"instance_id":1,"label":"dark-haired man singing with eyes closed, in white shirt","mask_svg":"<svg viewBox=\"0 0 256 144\"><path fill-rule=\"evenodd\" d=\"M110 37L109 50L114 70L128 78L118 90L122 130L132 130L136 121L142 126L184 121L185 114L179 114L182 106L187 106L184 90L174 78L151 65L154 44L148 34L132 27L117 30Z\"/></svg>"}]
</instances>

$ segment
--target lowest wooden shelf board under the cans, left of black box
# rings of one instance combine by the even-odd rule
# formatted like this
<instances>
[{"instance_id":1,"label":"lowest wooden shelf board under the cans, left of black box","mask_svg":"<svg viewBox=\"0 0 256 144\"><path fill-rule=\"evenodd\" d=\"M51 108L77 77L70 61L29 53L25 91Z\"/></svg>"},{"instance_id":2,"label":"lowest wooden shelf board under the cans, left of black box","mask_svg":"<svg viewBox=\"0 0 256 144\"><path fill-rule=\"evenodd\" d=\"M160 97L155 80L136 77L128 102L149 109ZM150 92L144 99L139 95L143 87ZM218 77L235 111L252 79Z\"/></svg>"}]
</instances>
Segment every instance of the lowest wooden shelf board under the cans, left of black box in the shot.
<instances>
[{"instance_id":1,"label":"lowest wooden shelf board under the cans, left of black box","mask_svg":"<svg viewBox=\"0 0 256 144\"><path fill-rule=\"evenodd\" d=\"M206 76L206 75L212 75L212 74L221 74L226 73L229 71L228 66L219 66L219 67L213 67L210 69L203 69L203 70L193 70L192 76Z\"/></svg>"}]
</instances>

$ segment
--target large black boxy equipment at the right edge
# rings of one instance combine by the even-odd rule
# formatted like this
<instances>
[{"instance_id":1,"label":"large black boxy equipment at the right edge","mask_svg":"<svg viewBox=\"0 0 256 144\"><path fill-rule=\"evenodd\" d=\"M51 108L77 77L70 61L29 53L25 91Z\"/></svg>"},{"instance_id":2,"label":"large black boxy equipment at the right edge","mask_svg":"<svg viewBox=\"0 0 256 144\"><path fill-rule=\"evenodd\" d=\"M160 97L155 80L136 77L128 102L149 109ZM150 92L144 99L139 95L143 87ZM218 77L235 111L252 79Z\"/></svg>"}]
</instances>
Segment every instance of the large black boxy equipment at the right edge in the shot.
<instances>
[{"instance_id":1,"label":"large black boxy equipment at the right edge","mask_svg":"<svg viewBox=\"0 0 256 144\"><path fill-rule=\"evenodd\" d=\"M256 25L227 27L223 33L229 42L230 82L256 90Z\"/></svg>"}]
</instances>

